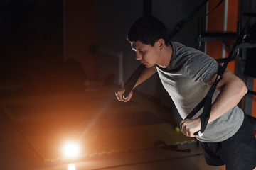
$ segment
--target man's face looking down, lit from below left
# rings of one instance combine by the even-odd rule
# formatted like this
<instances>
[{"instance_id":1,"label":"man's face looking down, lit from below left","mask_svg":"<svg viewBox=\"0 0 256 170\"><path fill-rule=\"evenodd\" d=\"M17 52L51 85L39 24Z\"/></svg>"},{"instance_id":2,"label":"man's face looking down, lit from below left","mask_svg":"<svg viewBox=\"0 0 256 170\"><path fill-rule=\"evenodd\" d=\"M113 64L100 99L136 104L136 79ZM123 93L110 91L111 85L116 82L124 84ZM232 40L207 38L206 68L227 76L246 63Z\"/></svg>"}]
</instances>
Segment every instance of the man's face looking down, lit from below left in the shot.
<instances>
[{"instance_id":1,"label":"man's face looking down, lit from below left","mask_svg":"<svg viewBox=\"0 0 256 170\"><path fill-rule=\"evenodd\" d=\"M140 41L131 43L132 50L136 52L136 60L139 60L146 68L153 67L159 60L160 50L158 46L145 45Z\"/></svg>"}]
</instances>

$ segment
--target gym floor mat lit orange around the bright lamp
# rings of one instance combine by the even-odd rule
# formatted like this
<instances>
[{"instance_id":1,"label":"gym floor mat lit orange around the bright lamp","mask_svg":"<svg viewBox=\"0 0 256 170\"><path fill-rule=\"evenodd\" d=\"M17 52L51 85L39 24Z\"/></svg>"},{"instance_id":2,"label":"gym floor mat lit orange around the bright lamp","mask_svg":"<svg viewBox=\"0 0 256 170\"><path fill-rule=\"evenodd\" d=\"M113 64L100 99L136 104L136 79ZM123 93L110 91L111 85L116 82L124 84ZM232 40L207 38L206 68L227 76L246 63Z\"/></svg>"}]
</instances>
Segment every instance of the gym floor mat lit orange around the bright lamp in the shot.
<instances>
[{"instance_id":1,"label":"gym floor mat lit orange around the bright lamp","mask_svg":"<svg viewBox=\"0 0 256 170\"><path fill-rule=\"evenodd\" d=\"M44 162L65 160L63 145L81 146L79 159L154 147L195 142L174 130L161 118L165 110L134 94L132 101L118 102L114 89L1 98L1 111L38 152Z\"/></svg>"}]
</instances>

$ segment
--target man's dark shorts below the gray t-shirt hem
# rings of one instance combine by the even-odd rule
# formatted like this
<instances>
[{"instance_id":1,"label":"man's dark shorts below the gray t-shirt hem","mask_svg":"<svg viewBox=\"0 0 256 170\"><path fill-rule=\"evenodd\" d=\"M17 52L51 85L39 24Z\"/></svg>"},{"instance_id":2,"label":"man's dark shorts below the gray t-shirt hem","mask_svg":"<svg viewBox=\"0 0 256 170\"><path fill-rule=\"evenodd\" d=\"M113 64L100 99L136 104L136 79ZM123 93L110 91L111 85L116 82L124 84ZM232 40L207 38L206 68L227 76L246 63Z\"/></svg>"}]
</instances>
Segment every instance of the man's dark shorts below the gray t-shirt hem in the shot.
<instances>
[{"instance_id":1,"label":"man's dark shorts below the gray t-shirt hem","mask_svg":"<svg viewBox=\"0 0 256 170\"><path fill-rule=\"evenodd\" d=\"M206 163L226 165L227 170L252 170L256 167L256 140L250 119L245 119L238 132L223 142L200 142Z\"/></svg>"}]
</instances>

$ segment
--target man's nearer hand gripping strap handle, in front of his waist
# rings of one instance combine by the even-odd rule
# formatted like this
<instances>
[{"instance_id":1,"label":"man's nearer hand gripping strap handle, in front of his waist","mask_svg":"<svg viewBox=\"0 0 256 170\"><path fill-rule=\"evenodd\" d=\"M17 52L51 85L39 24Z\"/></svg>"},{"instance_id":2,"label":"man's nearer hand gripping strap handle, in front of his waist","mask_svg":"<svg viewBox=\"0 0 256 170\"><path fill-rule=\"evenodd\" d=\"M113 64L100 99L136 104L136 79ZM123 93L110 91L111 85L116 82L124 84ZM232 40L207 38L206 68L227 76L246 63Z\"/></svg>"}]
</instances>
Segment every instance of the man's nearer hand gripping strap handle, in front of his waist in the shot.
<instances>
[{"instance_id":1,"label":"man's nearer hand gripping strap handle, in front of his waist","mask_svg":"<svg viewBox=\"0 0 256 170\"><path fill-rule=\"evenodd\" d=\"M195 132L201 130L201 119L185 119L181 120L181 132L187 137L196 137Z\"/></svg>"}]
</instances>

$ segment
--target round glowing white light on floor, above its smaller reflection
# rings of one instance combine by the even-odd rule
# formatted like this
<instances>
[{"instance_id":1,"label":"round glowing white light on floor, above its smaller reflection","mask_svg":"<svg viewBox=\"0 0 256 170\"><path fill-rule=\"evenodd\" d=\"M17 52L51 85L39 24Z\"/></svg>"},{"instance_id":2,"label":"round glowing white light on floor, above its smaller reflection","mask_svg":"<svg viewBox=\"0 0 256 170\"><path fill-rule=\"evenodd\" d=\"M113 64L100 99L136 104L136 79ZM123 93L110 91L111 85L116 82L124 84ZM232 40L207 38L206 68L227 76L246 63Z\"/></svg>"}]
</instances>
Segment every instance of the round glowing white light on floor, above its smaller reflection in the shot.
<instances>
[{"instance_id":1,"label":"round glowing white light on floor, above its smaller reflection","mask_svg":"<svg viewBox=\"0 0 256 170\"><path fill-rule=\"evenodd\" d=\"M63 147L63 154L65 158L75 159L80 154L80 147L76 142L68 142Z\"/></svg>"}]
</instances>

